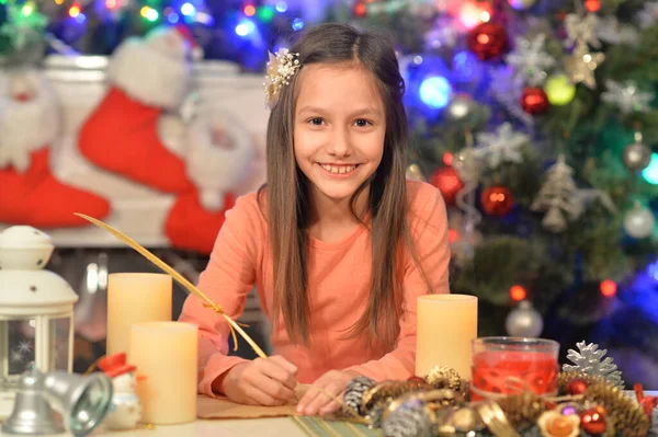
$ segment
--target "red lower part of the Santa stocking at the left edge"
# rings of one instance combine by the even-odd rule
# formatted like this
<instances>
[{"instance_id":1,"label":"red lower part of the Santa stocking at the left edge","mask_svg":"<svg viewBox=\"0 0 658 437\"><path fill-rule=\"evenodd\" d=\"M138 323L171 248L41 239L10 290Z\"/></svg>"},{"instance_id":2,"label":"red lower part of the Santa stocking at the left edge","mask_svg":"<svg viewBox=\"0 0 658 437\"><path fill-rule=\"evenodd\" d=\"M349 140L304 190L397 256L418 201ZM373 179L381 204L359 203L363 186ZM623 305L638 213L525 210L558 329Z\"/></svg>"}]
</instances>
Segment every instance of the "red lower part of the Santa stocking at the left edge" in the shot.
<instances>
[{"instance_id":1,"label":"red lower part of the Santa stocking at the left edge","mask_svg":"<svg viewBox=\"0 0 658 437\"><path fill-rule=\"evenodd\" d=\"M75 216L82 212L103 219L110 204L95 194L58 182L50 172L50 149L30 153L30 168L19 173L14 168L0 171L0 222L35 228L88 226Z\"/></svg>"}]
</instances>

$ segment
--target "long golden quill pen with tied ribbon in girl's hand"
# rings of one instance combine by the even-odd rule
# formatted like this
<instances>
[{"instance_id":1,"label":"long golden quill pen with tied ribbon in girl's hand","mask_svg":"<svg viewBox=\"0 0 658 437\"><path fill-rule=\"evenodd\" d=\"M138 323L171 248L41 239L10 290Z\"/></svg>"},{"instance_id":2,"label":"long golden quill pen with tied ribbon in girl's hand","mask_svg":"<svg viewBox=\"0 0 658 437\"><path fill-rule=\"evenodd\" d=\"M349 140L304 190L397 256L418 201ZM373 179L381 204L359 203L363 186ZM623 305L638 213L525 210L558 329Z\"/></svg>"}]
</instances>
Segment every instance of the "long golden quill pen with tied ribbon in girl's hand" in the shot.
<instances>
[{"instance_id":1,"label":"long golden quill pen with tied ribbon in girl's hand","mask_svg":"<svg viewBox=\"0 0 658 437\"><path fill-rule=\"evenodd\" d=\"M84 220L88 220L88 221L92 222L93 225L95 225L95 226L98 226L98 227L106 230L107 232L110 232L111 234L113 234L114 237L116 237L118 240L123 241L124 243L126 243L127 245L129 245L131 248L133 248L134 250L136 250L137 252L139 252L139 254L141 254L145 258L147 258L148 261L150 261L151 263L154 263L156 266L158 266L164 273L167 273L168 275L170 275L177 283L179 283L181 286L183 286L186 290L189 290L193 295L196 295L198 298L201 298L202 300L204 300L206 302L204 304L204 307L211 308L213 311L215 311L216 313L220 314L224 319L226 319L226 321L228 322L228 326L230 327L230 333L231 333L232 338L234 338L234 345L235 345L234 347L235 347L236 350L238 349L238 337L236 335L236 331L237 331L240 334L240 336L242 338L245 338L245 341L247 343L249 343L249 346L251 346L251 348L253 348L253 350L258 354L259 357L261 357L261 358L268 358L268 356L265 355L265 353L256 344L256 342L249 336L249 334L247 334L240 327L240 325L238 323L236 323L231 318L229 318L224 312L224 309L222 309L222 307L219 304L213 302L206 295L203 294L203 291L201 291L192 283L190 283L188 279L185 279L180 273L178 273L177 271L174 271L173 268L171 268L167 263L164 263L162 260L160 260L159 257L157 257L156 255L154 255L151 252L149 252L148 250L146 250L138 242L136 242L135 240L133 240L128 235L124 234L123 232L114 229L110 225L106 225L106 223L102 222L99 219L86 216L83 214L79 214L79 212L75 212L75 214L76 214L76 216L81 217Z\"/></svg>"}]
</instances>

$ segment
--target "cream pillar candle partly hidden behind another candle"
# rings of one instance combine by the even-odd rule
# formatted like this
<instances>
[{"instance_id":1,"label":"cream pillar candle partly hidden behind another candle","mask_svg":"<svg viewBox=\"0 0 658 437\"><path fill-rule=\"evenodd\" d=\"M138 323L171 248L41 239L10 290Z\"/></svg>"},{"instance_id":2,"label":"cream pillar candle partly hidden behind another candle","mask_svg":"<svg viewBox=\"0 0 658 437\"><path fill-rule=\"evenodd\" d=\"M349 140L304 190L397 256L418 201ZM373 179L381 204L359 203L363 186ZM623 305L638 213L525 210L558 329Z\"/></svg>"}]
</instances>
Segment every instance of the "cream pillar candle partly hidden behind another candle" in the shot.
<instances>
[{"instance_id":1,"label":"cream pillar candle partly hidden behind another candle","mask_svg":"<svg viewBox=\"0 0 658 437\"><path fill-rule=\"evenodd\" d=\"M171 320L171 276L113 273L107 276L107 355L128 353L131 326Z\"/></svg>"}]
</instances>

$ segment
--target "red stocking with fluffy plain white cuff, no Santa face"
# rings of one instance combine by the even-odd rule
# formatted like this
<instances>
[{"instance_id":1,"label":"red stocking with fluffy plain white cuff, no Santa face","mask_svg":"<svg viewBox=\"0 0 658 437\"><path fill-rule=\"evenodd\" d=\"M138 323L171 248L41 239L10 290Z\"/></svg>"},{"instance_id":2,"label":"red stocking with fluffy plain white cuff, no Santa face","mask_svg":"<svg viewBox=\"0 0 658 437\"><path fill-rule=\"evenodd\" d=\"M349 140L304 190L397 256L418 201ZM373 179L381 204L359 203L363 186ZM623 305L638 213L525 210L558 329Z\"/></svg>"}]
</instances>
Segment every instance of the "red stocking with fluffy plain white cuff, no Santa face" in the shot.
<instances>
[{"instance_id":1,"label":"red stocking with fluffy plain white cuff, no Santa face","mask_svg":"<svg viewBox=\"0 0 658 437\"><path fill-rule=\"evenodd\" d=\"M166 193L192 185L184 160L158 135L163 111L180 104L188 89L188 37L175 27L158 28L116 49L107 70L110 90L79 135L91 162Z\"/></svg>"}]
</instances>

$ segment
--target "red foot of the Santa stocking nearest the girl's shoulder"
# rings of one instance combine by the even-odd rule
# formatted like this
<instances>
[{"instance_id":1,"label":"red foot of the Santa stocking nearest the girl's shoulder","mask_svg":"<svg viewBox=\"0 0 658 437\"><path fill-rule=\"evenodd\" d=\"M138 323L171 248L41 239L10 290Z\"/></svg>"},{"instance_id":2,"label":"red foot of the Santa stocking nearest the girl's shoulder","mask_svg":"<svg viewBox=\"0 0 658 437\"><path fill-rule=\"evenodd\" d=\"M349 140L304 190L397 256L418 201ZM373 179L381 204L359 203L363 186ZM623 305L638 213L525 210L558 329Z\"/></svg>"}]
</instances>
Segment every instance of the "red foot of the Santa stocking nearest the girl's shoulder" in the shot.
<instances>
[{"instance_id":1,"label":"red foot of the Santa stocking nearest the girl's shoulder","mask_svg":"<svg viewBox=\"0 0 658 437\"><path fill-rule=\"evenodd\" d=\"M177 249L209 254L224 225L224 214L232 208L235 198L227 194L224 206L218 211L208 211L200 199L198 192L193 188L175 200L164 225L164 233Z\"/></svg>"}]
</instances>

